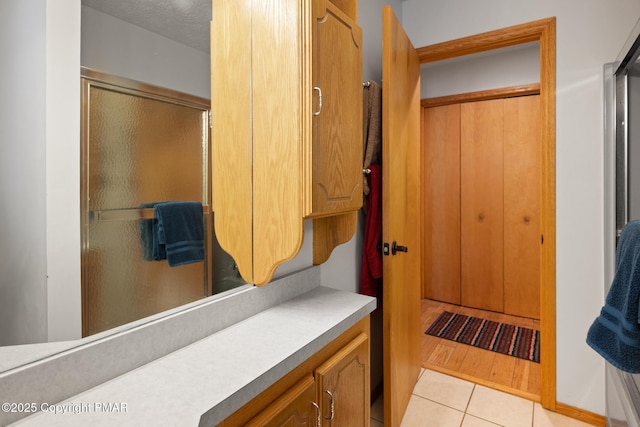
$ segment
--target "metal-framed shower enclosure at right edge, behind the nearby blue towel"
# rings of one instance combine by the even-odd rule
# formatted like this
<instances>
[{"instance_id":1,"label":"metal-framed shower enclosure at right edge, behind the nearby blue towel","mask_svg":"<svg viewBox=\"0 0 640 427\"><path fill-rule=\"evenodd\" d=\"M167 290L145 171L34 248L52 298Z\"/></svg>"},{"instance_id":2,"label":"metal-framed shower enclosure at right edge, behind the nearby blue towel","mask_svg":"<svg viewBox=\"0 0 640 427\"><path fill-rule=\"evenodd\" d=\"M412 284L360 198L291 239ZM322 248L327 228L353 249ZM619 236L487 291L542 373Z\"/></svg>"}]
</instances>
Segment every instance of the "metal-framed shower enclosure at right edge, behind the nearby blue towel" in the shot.
<instances>
[{"instance_id":1,"label":"metal-framed shower enclosure at right edge, behind the nearby blue towel","mask_svg":"<svg viewBox=\"0 0 640 427\"><path fill-rule=\"evenodd\" d=\"M640 21L615 63L604 66L605 294L624 225L640 219ZM606 365L607 426L640 427L640 374Z\"/></svg>"}]
</instances>

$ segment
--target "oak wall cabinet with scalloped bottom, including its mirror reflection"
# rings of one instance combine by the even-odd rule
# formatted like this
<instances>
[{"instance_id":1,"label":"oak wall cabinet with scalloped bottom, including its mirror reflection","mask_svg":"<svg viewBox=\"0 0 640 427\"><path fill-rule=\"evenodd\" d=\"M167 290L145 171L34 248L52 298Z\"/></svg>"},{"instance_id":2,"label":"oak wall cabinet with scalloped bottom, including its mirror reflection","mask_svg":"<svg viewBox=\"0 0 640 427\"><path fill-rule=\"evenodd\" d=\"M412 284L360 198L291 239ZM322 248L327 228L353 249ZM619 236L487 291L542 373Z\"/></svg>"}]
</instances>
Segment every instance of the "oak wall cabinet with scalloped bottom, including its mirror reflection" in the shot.
<instances>
[{"instance_id":1,"label":"oak wall cabinet with scalloped bottom, including its mirror reflection","mask_svg":"<svg viewBox=\"0 0 640 427\"><path fill-rule=\"evenodd\" d=\"M213 0L215 232L249 283L267 283L297 254L304 218L314 218L314 263L355 232L362 205L356 11L356 0Z\"/></svg>"}]
</instances>

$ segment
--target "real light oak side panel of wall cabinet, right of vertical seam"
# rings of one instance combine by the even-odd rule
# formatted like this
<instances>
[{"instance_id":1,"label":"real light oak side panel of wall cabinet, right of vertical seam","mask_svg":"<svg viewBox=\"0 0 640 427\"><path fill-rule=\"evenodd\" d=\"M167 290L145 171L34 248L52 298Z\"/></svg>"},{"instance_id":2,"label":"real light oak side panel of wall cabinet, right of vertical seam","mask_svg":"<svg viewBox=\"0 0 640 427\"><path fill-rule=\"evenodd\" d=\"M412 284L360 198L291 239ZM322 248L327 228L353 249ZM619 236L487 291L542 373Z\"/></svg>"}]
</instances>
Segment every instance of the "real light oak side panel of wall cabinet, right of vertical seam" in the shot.
<instances>
[{"instance_id":1,"label":"real light oak side panel of wall cabinet, right of vertical seam","mask_svg":"<svg viewBox=\"0 0 640 427\"><path fill-rule=\"evenodd\" d=\"M248 164L253 165L253 283L263 285L302 245L303 8L298 0L252 3L253 157Z\"/></svg>"}]
</instances>

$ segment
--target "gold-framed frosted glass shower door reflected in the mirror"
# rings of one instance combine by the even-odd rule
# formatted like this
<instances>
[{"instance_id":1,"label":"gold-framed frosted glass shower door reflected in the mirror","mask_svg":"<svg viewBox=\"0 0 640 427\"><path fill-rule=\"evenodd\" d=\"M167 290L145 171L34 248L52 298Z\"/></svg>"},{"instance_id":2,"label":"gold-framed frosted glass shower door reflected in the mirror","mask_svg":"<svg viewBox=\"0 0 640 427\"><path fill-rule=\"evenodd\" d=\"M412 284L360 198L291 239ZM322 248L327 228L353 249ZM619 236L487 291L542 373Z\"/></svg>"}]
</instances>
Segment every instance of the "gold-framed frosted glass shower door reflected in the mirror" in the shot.
<instances>
[{"instance_id":1,"label":"gold-framed frosted glass shower door reflected in the mirror","mask_svg":"<svg viewBox=\"0 0 640 427\"><path fill-rule=\"evenodd\" d=\"M208 104L127 86L83 79L83 336L210 294ZM205 262L145 259L145 205L163 201L202 203Z\"/></svg>"}]
</instances>

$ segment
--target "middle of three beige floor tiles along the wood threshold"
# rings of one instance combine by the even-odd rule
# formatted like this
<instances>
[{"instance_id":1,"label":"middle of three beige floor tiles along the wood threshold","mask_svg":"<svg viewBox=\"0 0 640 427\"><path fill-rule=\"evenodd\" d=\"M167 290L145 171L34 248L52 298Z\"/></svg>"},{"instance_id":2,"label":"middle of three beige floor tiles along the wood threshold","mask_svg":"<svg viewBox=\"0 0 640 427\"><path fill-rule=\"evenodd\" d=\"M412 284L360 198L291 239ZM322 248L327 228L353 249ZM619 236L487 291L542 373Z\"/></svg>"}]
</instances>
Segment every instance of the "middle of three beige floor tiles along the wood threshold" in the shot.
<instances>
[{"instance_id":1,"label":"middle of three beige floor tiles along the wood threshold","mask_svg":"<svg viewBox=\"0 0 640 427\"><path fill-rule=\"evenodd\" d=\"M467 413L505 427L531 427L533 402L476 385Z\"/></svg>"}]
</instances>

